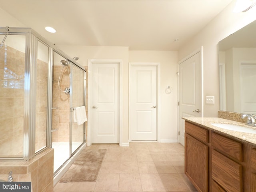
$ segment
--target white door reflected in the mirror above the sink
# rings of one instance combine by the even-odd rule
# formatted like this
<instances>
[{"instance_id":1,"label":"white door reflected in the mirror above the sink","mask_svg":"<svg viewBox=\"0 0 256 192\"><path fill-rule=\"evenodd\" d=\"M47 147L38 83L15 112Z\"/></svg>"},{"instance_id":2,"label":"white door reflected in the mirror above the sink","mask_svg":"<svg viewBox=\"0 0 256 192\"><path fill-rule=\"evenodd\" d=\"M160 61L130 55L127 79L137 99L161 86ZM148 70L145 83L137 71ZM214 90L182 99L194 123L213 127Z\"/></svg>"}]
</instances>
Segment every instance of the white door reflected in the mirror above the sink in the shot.
<instances>
[{"instance_id":1,"label":"white door reflected in the mirror above the sink","mask_svg":"<svg viewBox=\"0 0 256 192\"><path fill-rule=\"evenodd\" d=\"M256 114L256 63L241 63L240 67L240 95L241 113Z\"/></svg>"}]
</instances>

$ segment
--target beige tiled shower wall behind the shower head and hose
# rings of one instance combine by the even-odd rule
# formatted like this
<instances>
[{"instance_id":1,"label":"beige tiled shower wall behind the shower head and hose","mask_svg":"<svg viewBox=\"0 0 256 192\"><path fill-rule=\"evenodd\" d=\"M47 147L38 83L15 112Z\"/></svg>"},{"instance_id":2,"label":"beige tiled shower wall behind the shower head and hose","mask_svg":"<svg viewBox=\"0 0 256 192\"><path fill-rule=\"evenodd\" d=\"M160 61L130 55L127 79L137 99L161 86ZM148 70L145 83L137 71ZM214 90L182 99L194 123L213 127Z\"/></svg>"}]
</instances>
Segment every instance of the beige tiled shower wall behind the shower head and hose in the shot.
<instances>
[{"instance_id":1,"label":"beige tiled shower wall behind the shower head and hose","mask_svg":"<svg viewBox=\"0 0 256 192\"><path fill-rule=\"evenodd\" d=\"M62 66L54 66L53 68L53 88L52 88L52 142L69 142L70 127L70 95L65 94L61 90L70 86L70 78L68 70ZM58 79L60 76L60 88L58 88ZM74 90L79 90L73 95L73 106L81 106L83 102L83 73L77 74L74 71L73 86ZM86 86L87 88L87 86ZM87 106L87 105L86 105ZM87 110L86 110L87 111ZM82 141L82 125L72 124L72 142ZM86 124L87 127L87 124Z\"/></svg>"}]
</instances>

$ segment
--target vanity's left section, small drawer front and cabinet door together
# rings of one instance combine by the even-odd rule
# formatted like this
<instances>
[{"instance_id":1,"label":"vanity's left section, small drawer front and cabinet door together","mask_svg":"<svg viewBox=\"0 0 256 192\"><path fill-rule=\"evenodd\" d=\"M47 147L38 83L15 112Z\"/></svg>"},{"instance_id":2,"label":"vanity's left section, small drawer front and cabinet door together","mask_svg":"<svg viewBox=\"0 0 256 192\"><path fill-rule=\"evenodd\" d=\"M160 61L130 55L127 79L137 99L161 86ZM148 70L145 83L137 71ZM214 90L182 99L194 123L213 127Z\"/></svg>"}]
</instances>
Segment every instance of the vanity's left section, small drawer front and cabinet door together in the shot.
<instances>
[{"instance_id":1,"label":"vanity's left section, small drawer front and cabinet door together","mask_svg":"<svg viewBox=\"0 0 256 192\"><path fill-rule=\"evenodd\" d=\"M208 130L185 122L185 174L198 192L208 192Z\"/></svg>"}]
</instances>

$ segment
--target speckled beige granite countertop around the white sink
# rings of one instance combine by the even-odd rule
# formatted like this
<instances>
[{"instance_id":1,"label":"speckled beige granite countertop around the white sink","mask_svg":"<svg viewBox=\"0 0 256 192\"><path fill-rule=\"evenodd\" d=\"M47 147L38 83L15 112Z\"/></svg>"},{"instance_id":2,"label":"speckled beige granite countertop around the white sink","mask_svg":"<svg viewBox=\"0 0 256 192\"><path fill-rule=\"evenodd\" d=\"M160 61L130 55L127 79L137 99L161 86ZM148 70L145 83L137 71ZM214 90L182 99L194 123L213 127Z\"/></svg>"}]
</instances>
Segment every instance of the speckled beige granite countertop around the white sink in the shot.
<instances>
[{"instance_id":1,"label":"speckled beige granite countertop around the white sink","mask_svg":"<svg viewBox=\"0 0 256 192\"><path fill-rule=\"evenodd\" d=\"M217 118L217 117L214 117L214 118L210 118L210 117L182 117L182 119L186 120L187 122L191 122L193 124L196 124L198 126L206 128L208 130L213 130L215 132L218 132L222 135L233 138L235 140L239 140L240 142L252 144L254 147L256 147L256 134L227 130L227 129L224 129L224 128L219 128L219 127L213 126L212 123L234 124L234 125L254 129L254 130L256 130L256 127L248 126L244 123L240 123L240 122L236 122L236 121L232 121L232 120L227 120L227 119L222 119L222 118Z\"/></svg>"}]
</instances>

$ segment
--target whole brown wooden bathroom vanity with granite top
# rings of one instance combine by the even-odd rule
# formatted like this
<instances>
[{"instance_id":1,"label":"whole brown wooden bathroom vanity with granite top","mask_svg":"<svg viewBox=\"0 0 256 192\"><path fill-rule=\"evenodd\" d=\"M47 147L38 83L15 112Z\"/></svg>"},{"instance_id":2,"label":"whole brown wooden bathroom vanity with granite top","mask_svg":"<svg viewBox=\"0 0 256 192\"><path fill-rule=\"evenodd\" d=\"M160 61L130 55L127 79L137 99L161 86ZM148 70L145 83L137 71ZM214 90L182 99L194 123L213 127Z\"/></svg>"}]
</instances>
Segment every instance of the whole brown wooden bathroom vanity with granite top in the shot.
<instances>
[{"instance_id":1,"label":"whole brown wooden bathroom vanity with granite top","mask_svg":"<svg viewBox=\"0 0 256 192\"><path fill-rule=\"evenodd\" d=\"M183 119L185 174L198 192L256 192L256 128L222 118Z\"/></svg>"}]
</instances>

